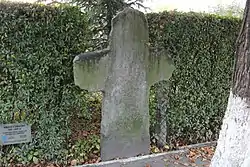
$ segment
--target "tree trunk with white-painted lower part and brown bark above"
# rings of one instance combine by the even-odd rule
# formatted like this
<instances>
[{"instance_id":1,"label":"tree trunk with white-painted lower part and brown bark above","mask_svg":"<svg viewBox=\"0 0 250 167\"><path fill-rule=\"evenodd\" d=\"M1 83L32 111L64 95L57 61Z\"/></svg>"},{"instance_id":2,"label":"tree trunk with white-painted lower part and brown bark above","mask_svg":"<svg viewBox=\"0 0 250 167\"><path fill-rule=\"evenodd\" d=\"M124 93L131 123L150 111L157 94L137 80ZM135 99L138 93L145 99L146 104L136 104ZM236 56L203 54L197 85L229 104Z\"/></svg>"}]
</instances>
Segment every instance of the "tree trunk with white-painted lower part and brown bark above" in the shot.
<instances>
[{"instance_id":1,"label":"tree trunk with white-painted lower part and brown bark above","mask_svg":"<svg viewBox=\"0 0 250 167\"><path fill-rule=\"evenodd\" d=\"M236 41L232 88L210 167L250 167L250 0Z\"/></svg>"}]
</instances>

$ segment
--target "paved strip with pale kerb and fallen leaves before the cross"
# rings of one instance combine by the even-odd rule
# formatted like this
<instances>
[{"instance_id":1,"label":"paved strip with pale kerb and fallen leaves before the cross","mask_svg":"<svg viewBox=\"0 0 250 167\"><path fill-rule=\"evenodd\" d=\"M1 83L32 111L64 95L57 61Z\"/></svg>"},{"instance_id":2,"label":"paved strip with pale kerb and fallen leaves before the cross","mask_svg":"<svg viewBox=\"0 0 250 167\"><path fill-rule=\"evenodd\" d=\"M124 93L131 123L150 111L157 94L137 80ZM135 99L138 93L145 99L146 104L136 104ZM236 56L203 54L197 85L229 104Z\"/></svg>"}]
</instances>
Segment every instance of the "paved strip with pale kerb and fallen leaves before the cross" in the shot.
<instances>
[{"instance_id":1,"label":"paved strip with pale kerb and fallen leaves before the cross","mask_svg":"<svg viewBox=\"0 0 250 167\"><path fill-rule=\"evenodd\" d=\"M140 159L117 160L109 164L87 165L84 167L208 167L214 153L214 145L196 145L178 151L166 152Z\"/></svg>"}]
</instances>

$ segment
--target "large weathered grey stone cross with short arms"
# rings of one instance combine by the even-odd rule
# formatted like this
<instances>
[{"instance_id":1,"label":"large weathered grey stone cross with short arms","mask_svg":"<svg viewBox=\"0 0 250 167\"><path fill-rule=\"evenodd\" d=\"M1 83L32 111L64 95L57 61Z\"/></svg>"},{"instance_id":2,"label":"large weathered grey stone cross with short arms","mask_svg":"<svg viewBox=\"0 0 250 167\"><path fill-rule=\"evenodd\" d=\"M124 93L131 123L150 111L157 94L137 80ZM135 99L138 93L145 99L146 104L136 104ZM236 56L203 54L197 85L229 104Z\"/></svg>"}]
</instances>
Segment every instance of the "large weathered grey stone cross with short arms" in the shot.
<instances>
[{"instance_id":1,"label":"large weathered grey stone cross with short arms","mask_svg":"<svg viewBox=\"0 0 250 167\"><path fill-rule=\"evenodd\" d=\"M102 161L148 154L149 89L175 69L168 56L149 55L145 15L126 8L112 20L107 49L83 53L73 61L75 84L104 92Z\"/></svg>"}]
</instances>

